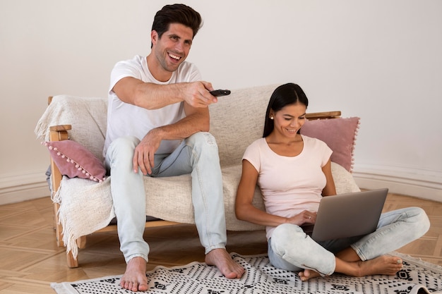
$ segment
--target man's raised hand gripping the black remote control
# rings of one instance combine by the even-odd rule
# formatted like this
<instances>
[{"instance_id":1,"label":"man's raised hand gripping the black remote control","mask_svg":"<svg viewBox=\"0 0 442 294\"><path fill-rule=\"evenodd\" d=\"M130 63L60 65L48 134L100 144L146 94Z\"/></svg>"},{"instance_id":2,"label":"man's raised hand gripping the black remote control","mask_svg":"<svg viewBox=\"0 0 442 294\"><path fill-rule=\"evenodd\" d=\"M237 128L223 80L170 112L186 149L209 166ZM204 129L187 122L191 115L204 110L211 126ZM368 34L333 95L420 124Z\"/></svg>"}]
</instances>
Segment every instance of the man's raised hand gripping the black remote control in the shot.
<instances>
[{"instance_id":1,"label":"man's raised hand gripping the black remote control","mask_svg":"<svg viewBox=\"0 0 442 294\"><path fill-rule=\"evenodd\" d=\"M213 90L210 82L187 82L179 84L183 87L184 101L193 107L207 107L218 101L209 91Z\"/></svg>"}]
</instances>

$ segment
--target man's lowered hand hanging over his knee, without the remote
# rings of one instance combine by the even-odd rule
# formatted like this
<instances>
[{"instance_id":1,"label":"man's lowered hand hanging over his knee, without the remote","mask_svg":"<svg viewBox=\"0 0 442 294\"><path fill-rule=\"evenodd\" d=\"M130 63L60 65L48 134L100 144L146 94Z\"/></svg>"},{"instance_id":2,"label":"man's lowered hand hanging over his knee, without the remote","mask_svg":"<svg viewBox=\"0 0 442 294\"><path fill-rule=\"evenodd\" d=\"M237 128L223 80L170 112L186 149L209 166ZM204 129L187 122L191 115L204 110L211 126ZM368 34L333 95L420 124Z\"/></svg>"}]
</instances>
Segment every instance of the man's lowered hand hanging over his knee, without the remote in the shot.
<instances>
[{"instance_id":1,"label":"man's lowered hand hanging over his knee, without the remote","mask_svg":"<svg viewBox=\"0 0 442 294\"><path fill-rule=\"evenodd\" d=\"M160 147L161 137L157 133L157 129L150 130L150 132L143 137L140 144L133 152L133 172L138 173L138 167L141 169L143 175L152 173L155 166L155 152Z\"/></svg>"}]
</instances>

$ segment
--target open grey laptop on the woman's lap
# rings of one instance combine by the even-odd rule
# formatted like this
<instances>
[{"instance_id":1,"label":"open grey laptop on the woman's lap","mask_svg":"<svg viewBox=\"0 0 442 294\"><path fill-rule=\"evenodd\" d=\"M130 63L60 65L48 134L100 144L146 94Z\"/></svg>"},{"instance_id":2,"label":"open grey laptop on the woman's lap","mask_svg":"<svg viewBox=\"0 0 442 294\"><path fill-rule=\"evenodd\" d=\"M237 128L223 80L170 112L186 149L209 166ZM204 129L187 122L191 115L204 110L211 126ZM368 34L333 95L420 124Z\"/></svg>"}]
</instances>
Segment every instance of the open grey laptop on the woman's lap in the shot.
<instances>
[{"instance_id":1,"label":"open grey laptop on the woman's lap","mask_svg":"<svg viewBox=\"0 0 442 294\"><path fill-rule=\"evenodd\" d=\"M316 223L304 231L315 241L373 233L387 194L388 188L383 188L323 197Z\"/></svg>"}]
</instances>

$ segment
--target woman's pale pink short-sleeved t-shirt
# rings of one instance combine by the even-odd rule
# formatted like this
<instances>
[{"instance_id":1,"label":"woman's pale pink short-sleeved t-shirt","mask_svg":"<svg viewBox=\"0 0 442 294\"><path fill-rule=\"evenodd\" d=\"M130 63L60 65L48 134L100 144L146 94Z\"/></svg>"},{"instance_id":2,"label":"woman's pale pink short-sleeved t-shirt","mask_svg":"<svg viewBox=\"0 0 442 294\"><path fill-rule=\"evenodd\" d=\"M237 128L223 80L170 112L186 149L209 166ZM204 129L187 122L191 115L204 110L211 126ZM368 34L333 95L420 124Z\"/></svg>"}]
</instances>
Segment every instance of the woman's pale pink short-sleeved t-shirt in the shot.
<instances>
[{"instance_id":1,"label":"woman's pale pink short-sleeved t-shirt","mask_svg":"<svg viewBox=\"0 0 442 294\"><path fill-rule=\"evenodd\" d=\"M304 209L317 212L326 179L322 171L332 154L325 142L302 136L304 148L296 157L284 157L273 152L265 138L253 142L243 159L258 171L265 210L269 214L292 217ZM267 227L270 238L275 227Z\"/></svg>"}]
</instances>

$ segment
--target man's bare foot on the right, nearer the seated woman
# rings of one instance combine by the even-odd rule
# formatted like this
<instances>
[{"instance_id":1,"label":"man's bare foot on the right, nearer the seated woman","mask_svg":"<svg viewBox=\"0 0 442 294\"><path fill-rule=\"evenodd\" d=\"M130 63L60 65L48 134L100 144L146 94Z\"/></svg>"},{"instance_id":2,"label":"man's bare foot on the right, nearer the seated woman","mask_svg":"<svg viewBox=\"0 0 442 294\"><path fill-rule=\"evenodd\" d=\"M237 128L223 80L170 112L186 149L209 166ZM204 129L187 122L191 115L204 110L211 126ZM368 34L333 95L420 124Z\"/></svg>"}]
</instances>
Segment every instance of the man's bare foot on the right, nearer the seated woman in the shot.
<instances>
[{"instance_id":1,"label":"man's bare foot on the right, nearer the seated woman","mask_svg":"<svg viewBox=\"0 0 442 294\"><path fill-rule=\"evenodd\" d=\"M226 278L241 278L244 268L233 261L225 249L219 248L205 255L205 263L214 265Z\"/></svg>"}]
</instances>

